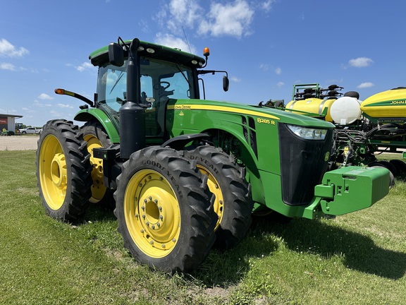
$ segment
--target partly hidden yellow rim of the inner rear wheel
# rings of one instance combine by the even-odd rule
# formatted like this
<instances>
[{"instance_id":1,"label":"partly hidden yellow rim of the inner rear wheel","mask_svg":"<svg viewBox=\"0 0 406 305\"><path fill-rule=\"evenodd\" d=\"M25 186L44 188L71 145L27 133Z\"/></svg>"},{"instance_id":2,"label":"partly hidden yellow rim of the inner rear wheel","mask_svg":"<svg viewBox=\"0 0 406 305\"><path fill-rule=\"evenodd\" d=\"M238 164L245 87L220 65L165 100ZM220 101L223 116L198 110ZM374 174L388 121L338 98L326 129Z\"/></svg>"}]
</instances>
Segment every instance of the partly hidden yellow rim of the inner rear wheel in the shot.
<instances>
[{"instance_id":1,"label":"partly hidden yellow rim of the inner rear wheel","mask_svg":"<svg viewBox=\"0 0 406 305\"><path fill-rule=\"evenodd\" d=\"M99 139L93 135L86 135L84 137L87 142L87 151L90 153L90 164L92 165L92 197L89 199L91 203L98 203L103 199L106 193L106 186L103 182L103 160L93 155L94 148L102 148Z\"/></svg>"}]
</instances>

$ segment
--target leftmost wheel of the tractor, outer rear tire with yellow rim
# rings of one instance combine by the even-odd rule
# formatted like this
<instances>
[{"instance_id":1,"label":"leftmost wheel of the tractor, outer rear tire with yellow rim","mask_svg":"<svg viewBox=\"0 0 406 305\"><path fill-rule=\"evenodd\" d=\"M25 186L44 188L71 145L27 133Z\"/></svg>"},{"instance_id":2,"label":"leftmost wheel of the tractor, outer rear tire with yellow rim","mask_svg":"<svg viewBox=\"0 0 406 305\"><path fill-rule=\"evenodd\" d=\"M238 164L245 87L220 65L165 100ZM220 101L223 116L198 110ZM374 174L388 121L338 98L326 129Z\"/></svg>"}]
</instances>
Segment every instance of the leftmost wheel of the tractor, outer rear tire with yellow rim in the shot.
<instances>
[{"instance_id":1,"label":"leftmost wheel of the tractor, outer rear tire with yellow rim","mask_svg":"<svg viewBox=\"0 0 406 305\"><path fill-rule=\"evenodd\" d=\"M90 155L78 126L62 119L48 121L39 136L36 163L39 197L47 214L78 220L92 196Z\"/></svg>"}]
</instances>

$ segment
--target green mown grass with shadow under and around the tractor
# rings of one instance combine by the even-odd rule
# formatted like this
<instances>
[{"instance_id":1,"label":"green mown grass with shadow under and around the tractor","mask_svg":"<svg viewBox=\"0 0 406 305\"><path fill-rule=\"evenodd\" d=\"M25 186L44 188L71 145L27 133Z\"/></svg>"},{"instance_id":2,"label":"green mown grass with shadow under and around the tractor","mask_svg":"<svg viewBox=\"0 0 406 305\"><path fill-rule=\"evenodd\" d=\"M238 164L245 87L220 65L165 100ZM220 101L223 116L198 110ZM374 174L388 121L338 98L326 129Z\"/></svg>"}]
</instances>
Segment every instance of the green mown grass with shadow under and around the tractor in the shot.
<instances>
[{"instance_id":1,"label":"green mown grass with shadow under and around the tractor","mask_svg":"<svg viewBox=\"0 0 406 305\"><path fill-rule=\"evenodd\" d=\"M406 184L369 209L254 220L233 251L190 275L138 265L111 211L47 217L35 151L0 152L0 304L406 304Z\"/></svg>"}]
</instances>

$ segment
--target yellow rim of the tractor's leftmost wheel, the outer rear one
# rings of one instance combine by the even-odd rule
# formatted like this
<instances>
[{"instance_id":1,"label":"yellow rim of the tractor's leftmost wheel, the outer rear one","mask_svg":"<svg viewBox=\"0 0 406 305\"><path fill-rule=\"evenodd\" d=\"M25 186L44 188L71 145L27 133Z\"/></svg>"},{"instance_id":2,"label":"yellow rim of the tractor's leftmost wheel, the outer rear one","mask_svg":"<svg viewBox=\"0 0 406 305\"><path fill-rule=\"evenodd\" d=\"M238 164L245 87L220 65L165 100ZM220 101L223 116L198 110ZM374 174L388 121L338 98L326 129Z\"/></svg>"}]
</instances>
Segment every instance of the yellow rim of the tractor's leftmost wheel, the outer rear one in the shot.
<instances>
[{"instance_id":1,"label":"yellow rim of the tractor's leftmost wheel, the outer rear one","mask_svg":"<svg viewBox=\"0 0 406 305\"><path fill-rule=\"evenodd\" d=\"M42 141L39 151L39 182L42 195L52 210L59 210L66 197L68 172L61 143L54 135Z\"/></svg>"}]
</instances>

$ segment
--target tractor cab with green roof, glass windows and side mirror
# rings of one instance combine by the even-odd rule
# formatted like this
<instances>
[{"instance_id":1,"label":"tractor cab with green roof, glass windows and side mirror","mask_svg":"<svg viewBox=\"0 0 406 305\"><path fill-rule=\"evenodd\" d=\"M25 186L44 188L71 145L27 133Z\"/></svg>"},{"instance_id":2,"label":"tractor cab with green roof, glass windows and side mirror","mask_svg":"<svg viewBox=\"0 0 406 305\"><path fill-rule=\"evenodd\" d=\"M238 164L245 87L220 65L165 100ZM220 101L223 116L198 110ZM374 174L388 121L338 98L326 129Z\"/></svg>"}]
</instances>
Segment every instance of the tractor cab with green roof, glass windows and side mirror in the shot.
<instances>
[{"instance_id":1,"label":"tractor cab with green roof, glass windows and side mirror","mask_svg":"<svg viewBox=\"0 0 406 305\"><path fill-rule=\"evenodd\" d=\"M107 116L111 121L114 128L104 127L114 143L119 142L118 136L123 132L120 128L120 109L126 102L134 102L142 109L144 124L140 132L151 145L164 143L170 138L166 128L168 104L175 104L178 100L199 100L199 81L205 97L204 80L199 76L225 73L223 90L228 90L226 71L202 69L207 65L208 48L204 49L203 59L149 42L137 41L137 47L133 45L133 41L119 38L118 43L111 43L89 56L92 64L99 66L99 74L94 102L85 102L100 109L102 116ZM80 98L73 92L68 94ZM82 109L75 120L89 121L87 109ZM130 124L126 122L125 126Z\"/></svg>"}]
</instances>

